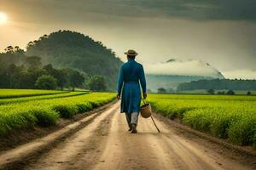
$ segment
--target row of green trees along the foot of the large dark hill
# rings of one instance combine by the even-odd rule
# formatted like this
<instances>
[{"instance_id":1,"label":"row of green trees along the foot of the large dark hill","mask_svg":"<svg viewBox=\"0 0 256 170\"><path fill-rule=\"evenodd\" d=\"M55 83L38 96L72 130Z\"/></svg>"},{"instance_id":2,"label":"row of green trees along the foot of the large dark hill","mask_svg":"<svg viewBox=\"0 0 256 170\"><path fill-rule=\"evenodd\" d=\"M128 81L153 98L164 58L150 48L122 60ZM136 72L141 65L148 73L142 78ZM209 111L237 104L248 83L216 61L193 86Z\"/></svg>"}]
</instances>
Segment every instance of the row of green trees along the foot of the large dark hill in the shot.
<instances>
[{"instance_id":1,"label":"row of green trees along the foot of the large dark hill","mask_svg":"<svg viewBox=\"0 0 256 170\"><path fill-rule=\"evenodd\" d=\"M9 46L0 53L0 88L89 88L104 91L105 77L88 77L71 68L56 69L43 65L38 56L26 56L18 46Z\"/></svg>"}]
</instances>

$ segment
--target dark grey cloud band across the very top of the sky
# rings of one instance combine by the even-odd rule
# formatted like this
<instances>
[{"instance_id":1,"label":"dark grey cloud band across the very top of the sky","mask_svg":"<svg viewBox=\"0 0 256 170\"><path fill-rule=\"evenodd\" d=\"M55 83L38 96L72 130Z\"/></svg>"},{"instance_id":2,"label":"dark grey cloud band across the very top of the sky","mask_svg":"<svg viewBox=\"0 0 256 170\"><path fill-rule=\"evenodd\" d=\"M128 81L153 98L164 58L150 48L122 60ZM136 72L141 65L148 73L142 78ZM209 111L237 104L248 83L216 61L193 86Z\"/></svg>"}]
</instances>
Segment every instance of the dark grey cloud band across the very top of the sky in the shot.
<instances>
[{"instance_id":1,"label":"dark grey cloud band across the very top of the sky","mask_svg":"<svg viewBox=\"0 0 256 170\"><path fill-rule=\"evenodd\" d=\"M70 14L74 11L79 14L90 12L147 18L164 16L189 20L256 20L254 0L15 0L12 2L14 6L23 6L26 11L47 11L49 14ZM71 17L69 14L66 17Z\"/></svg>"}]
</instances>

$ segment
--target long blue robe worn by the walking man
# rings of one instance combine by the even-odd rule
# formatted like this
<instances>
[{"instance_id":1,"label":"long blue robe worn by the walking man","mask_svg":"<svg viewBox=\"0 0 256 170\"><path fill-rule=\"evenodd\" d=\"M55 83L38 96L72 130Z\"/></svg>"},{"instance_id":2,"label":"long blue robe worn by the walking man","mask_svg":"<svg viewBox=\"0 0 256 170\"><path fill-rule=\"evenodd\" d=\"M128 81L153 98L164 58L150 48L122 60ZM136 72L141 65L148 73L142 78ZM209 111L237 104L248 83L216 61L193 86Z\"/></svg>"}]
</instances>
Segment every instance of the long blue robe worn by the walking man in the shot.
<instances>
[{"instance_id":1,"label":"long blue robe worn by the walking man","mask_svg":"<svg viewBox=\"0 0 256 170\"><path fill-rule=\"evenodd\" d=\"M118 94L122 94L121 113L140 111L142 99L140 84L143 93L146 93L146 79L143 65L137 63L134 59L128 59L119 70Z\"/></svg>"}]
</instances>

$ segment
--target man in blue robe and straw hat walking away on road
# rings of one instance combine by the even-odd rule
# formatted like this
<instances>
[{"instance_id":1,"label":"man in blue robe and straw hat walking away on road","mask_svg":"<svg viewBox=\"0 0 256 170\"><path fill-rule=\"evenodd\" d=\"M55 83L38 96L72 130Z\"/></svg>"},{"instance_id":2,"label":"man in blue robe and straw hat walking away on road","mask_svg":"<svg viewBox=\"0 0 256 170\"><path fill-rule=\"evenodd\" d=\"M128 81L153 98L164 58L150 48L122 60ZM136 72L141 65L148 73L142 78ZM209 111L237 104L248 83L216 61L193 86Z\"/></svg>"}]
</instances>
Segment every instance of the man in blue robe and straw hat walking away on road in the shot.
<instances>
[{"instance_id":1,"label":"man in blue robe and straw hat walking away on road","mask_svg":"<svg viewBox=\"0 0 256 170\"><path fill-rule=\"evenodd\" d=\"M137 133L137 121L142 98L140 85L143 89L143 99L146 99L146 79L143 65L135 60L137 52L130 49L125 54L127 55L127 62L119 70L117 98L121 99L121 113L125 112L129 131Z\"/></svg>"}]
</instances>

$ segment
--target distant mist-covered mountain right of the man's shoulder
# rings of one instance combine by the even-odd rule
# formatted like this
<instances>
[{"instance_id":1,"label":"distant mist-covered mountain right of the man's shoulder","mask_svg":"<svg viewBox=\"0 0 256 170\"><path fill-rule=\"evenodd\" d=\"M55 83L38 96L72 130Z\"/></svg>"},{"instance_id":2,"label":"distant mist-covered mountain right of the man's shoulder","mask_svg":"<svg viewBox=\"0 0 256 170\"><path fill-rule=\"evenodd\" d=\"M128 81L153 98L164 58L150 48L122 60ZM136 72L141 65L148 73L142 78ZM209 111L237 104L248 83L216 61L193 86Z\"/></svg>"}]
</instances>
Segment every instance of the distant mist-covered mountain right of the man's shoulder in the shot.
<instances>
[{"instance_id":1,"label":"distant mist-covered mountain right of the man's shoulder","mask_svg":"<svg viewBox=\"0 0 256 170\"><path fill-rule=\"evenodd\" d=\"M176 90L183 82L223 79L224 76L212 65L197 59L169 59L165 63L145 65L148 89L156 92L158 88Z\"/></svg>"}]
</instances>

